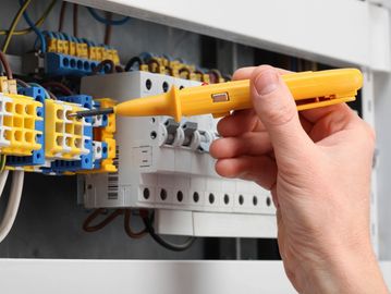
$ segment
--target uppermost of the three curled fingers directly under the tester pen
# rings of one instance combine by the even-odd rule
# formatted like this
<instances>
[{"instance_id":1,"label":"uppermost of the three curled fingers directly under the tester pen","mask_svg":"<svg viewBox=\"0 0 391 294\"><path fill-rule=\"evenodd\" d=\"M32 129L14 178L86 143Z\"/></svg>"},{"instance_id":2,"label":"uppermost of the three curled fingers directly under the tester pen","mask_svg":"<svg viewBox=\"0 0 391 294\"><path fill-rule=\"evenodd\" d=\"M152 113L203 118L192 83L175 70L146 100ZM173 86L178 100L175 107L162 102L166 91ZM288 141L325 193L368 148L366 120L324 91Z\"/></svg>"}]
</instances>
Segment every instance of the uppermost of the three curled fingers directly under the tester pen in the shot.
<instances>
[{"instance_id":1,"label":"uppermost of the three curled fingers directly under the tester pen","mask_svg":"<svg viewBox=\"0 0 391 294\"><path fill-rule=\"evenodd\" d=\"M254 109L233 112L221 119L217 125L219 134L223 137L235 137L243 133L265 130L265 126L255 114Z\"/></svg>"}]
</instances>

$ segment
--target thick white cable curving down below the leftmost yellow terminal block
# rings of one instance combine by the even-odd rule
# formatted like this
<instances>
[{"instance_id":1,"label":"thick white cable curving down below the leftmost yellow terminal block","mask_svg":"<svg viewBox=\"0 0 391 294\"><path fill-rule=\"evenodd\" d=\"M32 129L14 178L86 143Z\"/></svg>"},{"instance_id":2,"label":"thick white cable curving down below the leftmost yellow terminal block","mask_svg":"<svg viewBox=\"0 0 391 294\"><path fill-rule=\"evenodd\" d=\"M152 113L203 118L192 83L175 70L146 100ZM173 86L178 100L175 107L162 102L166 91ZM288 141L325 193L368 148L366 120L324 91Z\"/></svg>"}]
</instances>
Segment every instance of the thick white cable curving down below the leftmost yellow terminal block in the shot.
<instances>
[{"instance_id":1,"label":"thick white cable curving down below the leftmost yellow terminal block","mask_svg":"<svg viewBox=\"0 0 391 294\"><path fill-rule=\"evenodd\" d=\"M5 213L0 223L0 243L10 233L15 221L23 191L24 171L14 171L12 174L11 194L7 204Z\"/></svg>"}]
</instances>

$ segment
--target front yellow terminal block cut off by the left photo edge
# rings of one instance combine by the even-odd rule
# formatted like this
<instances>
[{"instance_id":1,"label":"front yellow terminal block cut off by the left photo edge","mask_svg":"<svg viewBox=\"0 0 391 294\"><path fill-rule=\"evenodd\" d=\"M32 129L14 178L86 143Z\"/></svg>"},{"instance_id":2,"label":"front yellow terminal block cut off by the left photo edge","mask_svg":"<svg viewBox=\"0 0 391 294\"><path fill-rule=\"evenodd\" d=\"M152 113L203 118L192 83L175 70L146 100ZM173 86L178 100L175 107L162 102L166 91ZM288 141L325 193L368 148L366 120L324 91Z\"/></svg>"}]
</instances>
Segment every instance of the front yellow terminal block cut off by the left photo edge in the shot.
<instances>
[{"instance_id":1,"label":"front yellow terminal block cut off by the left photo edge","mask_svg":"<svg viewBox=\"0 0 391 294\"><path fill-rule=\"evenodd\" d=\"M42 132L35 130L36 122L44 120L38 107L42 105L30 97L0 94L0 154L29 156L41 148L37 136Z\"/></svg>"}]
</instances>

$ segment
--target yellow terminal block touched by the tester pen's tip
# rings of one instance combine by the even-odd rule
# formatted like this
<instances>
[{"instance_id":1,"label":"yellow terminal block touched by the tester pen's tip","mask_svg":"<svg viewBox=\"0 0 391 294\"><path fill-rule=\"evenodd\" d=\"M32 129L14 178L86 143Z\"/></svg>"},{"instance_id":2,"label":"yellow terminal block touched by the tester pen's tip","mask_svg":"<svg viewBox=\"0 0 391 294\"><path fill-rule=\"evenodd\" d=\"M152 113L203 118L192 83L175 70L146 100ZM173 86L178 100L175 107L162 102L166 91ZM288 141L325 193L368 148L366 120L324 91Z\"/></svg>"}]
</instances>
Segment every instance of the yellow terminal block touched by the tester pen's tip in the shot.
<instances>
[{"instance_id":1,"label":"yellow terminal block touched by the tester pen's tip","mask_svg":"<svg viewBox=\"0 0 391 294\"><path fill-rule=\"evenodd\" d=\"M84 135L85 119L69 118L84 108L59 100L45 100L45 152L48 159L77 160L89 152Z\"/></svg>"}]
</instances>

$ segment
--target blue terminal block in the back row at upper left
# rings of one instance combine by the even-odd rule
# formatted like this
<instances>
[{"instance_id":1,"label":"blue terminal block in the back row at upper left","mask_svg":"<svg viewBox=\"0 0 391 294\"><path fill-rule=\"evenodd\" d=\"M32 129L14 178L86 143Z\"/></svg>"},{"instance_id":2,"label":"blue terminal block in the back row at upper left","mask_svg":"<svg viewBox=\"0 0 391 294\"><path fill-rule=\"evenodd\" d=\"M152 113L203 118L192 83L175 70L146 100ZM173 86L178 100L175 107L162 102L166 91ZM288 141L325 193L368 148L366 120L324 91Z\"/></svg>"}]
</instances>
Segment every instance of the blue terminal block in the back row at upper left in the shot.
<instances>
[{"instance_id":1,"label":"blue terminal block in the back row at upper left","mask_svg":"<svg viewBox=\"0 0 391 294\"><path fill-rule=\"evenodd\" d=\"M77 58L54 52L45 53L45 73L50 76L85 76L93 73L99 61ZM106 73L103 68L99 73Z\"/></svg>"}]
</instances>

